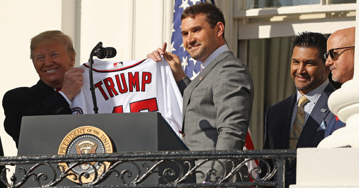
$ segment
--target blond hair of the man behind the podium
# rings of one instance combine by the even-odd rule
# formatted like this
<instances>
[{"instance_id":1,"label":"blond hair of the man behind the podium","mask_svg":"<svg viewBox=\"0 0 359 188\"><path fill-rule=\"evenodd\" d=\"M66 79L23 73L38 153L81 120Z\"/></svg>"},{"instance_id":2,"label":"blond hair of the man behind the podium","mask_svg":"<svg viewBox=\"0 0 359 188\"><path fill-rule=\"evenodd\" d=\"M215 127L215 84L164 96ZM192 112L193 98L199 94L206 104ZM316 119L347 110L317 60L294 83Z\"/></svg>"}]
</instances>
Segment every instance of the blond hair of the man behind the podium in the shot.
<instances>
[{"instance_id":1,"label":"blond hair of the man behind the podium","mask_svg":"<svg viewBox=\"0 0 359 188\"><path fill-rule=\"evenodd\" d=\"M54 42L63 43L68 56L71 56L71 57L76 56L76 52L75 52L74 46L72 44L71 37L62 33L59 30L51 30L51 31L42 32L31 39L30 59L32 60L32 62L35 63L34 62L34 58L35 58L34 51L35 51L36 47L39 47L40 45L43 45L43 44L54 43Z\"/></svg>"}]
</instances>

